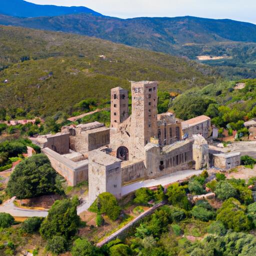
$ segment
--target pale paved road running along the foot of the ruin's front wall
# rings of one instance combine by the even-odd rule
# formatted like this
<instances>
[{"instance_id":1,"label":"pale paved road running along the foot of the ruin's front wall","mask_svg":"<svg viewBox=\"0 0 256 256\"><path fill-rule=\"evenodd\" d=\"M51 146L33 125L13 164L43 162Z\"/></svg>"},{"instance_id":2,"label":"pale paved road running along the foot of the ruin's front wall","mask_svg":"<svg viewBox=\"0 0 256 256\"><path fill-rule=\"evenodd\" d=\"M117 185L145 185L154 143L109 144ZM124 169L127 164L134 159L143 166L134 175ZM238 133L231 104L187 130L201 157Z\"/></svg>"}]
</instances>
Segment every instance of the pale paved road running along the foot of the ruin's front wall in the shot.
<instances>
[{"instance_id":1,"label":"pale paved road running along the foot of the ruin's front wall","mask_svg":"<svg viewBox=\"0 0 256 256\"><path fill-rule=\"evenodd\" d=\"M146 180L134 182L132 184L123 186L121 193L122 195L125 195L140 187L151 187L151 186L157 186L157 185L165 186L167 184L176 182L178 180L182 180L186 177L200 174L201 172L202 170L180 170L156 179L146 179Z\"/></svg>"}]
</instances>

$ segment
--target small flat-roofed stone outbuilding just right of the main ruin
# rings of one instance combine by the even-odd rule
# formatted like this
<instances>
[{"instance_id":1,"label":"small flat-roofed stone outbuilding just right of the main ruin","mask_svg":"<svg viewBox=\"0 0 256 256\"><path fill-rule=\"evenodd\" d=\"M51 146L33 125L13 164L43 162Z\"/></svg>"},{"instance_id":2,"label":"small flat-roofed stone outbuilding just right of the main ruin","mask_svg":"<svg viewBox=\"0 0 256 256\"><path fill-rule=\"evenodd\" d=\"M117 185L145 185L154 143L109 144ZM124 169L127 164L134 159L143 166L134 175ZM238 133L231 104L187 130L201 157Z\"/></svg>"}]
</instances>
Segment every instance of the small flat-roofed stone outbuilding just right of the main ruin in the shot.
<instances>
[{"instance_id":1,"label":"small flat-roofed stone outbuilding just right of the main ruin","mask_svg":"<svg viewBox=\"0 0 256 256\"><path fill-rule=\"evenodd\" d=\"M241 153L220 153L213 154L214 167L221 169L230 169L240 165Z\"/></svg>"}]
</instances>

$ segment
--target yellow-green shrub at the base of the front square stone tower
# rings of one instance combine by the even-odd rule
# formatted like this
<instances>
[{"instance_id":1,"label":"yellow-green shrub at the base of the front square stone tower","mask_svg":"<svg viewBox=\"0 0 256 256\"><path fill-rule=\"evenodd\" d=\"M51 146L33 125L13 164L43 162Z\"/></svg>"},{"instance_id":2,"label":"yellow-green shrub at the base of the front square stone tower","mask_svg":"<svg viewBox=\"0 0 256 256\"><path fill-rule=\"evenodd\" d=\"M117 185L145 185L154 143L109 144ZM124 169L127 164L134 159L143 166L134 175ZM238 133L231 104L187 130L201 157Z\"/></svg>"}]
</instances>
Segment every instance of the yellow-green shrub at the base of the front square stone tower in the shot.
<instances>
[{"instance_id":1,"label":"yellow-green shrub at the base of the front square stone tower","mask_svg":"<svg viewBox=\"0 0 256 256\"><path fill-rule=\"evenodd\" d=\"M116 220L121 212L116 198L109 192L99 194L97 199L89 207L89 210L106 214L112 220Z\"/></svg>"}]
</instances>

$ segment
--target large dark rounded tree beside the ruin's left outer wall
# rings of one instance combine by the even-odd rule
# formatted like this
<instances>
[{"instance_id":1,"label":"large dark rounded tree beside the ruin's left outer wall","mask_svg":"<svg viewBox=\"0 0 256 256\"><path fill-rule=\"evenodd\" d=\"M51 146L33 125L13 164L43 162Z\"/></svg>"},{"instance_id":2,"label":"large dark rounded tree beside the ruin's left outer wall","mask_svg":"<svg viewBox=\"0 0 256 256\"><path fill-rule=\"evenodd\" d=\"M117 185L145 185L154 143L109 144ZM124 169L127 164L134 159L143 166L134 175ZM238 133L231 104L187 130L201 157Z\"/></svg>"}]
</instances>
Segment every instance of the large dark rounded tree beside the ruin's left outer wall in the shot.
<instances>
[{"instance_id":1,"label":"large dark rounded tree beside the ruin's left outer wall","mask_svg":"<svg viewBox=\"0 0 256 256\"><path fill-rule=\"evenodd\" d=\"M44 154L35 154L22 160L10 175L7 192L19 199L55 191L56 171Z\"/></svg>"}]
</instances>

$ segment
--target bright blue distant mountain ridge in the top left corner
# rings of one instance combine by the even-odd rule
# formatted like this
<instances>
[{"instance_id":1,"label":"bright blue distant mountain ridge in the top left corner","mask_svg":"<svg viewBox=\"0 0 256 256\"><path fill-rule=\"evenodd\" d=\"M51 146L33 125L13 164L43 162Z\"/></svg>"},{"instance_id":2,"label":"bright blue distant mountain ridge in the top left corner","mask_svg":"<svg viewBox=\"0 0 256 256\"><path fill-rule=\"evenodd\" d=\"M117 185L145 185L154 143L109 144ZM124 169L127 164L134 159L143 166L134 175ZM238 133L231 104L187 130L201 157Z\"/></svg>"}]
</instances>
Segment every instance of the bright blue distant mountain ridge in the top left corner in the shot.
<instances>
[{"instance_id":1,"label":"bright blue distant mountain ridge in the top left corner","mask_svg":"<svg viewBox=\"0 0 256 256\"><path fill-rule=\"evenodd\" d=\"M72 13L102 15L83 6L40 5L23 0L0 0L0 13L17 17L58 16Z\"/></svg>"}]
</instances>

